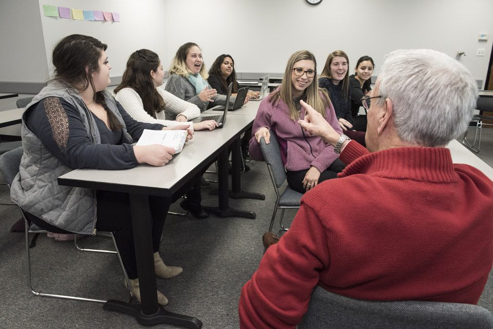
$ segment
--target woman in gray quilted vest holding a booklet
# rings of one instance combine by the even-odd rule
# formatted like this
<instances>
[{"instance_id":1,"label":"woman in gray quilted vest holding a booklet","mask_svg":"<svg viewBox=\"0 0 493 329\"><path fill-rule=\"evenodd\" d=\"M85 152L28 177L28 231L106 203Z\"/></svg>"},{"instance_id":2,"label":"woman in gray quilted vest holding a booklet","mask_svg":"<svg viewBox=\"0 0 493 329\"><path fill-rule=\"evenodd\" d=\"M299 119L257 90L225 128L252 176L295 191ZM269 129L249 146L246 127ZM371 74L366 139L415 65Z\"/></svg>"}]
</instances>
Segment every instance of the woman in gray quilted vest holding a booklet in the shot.
<instances>
[{"instance_id":1,"label":"woman in gray quilted vest holding a booklet","mask_svg":"<svg viewBox=\"0 0 493 329\"><path fill-rule=\"evenodd\" d=\"M114 232L131 289L140 301L128 194L59 186L56 179L78 168L164 166L175 153L163 145L132 145L144 129L169 128L133 120L105 90L111 69L106 48L80 34L66 36L54 47L54 78L26 106L22 118L24 155L11 197L33 222L42 220L73 233ZM183 271L166 266L159 255L170 202L170 197L149 196L156 275L165 279ZM166 297L159 291L157 295L166 305Z\"/></svg>"}]
</instances>

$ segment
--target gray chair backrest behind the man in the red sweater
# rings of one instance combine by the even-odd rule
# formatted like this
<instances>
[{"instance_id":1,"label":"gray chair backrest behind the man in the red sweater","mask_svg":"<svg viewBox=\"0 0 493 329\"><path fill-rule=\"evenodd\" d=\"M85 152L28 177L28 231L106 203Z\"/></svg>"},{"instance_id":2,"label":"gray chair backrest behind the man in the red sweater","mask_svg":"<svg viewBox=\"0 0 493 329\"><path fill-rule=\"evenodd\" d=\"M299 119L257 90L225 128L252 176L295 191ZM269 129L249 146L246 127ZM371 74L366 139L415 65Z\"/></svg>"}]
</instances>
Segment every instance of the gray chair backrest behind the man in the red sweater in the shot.
<instances>
[{"instance_id":1,"label":"gray chair backrest behind the man in the red sweater","mask_svg":"<svg viewBox=\"0 0 493 329\"><path fill-rule=\"evenodd\" d=\"M317 286L298 328L483 329L493 328L493 315L478 305L364 301L333 294Z\"/></svg>"}]
</instances>

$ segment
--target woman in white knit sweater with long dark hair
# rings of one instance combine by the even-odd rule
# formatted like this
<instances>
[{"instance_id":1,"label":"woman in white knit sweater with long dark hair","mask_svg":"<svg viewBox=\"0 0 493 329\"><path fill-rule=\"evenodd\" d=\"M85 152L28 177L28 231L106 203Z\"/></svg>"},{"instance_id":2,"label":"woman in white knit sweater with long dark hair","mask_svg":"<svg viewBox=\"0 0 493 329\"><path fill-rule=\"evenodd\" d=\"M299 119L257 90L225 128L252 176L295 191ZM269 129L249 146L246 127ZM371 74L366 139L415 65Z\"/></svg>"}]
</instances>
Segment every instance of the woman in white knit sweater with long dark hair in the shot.
<instances>
[{"instance_id":1,"label":"woman in white knit sweater with long dark hair","mask_svg":"<svg viewBox=\"0 0 493 329\"><path fill-rule=\"evenodd\" d=\"M115 98L132 118L141 122L174 127L200 116L197 105L159 88L163 77L164 71L157 53L147 49L137 50L128 58L122 82L115 88ZM173 113L176 121L165 120L165 112ZM217 126L214 120L190 124L194 130L213 130Z\"/></svg>"}]
</instances>

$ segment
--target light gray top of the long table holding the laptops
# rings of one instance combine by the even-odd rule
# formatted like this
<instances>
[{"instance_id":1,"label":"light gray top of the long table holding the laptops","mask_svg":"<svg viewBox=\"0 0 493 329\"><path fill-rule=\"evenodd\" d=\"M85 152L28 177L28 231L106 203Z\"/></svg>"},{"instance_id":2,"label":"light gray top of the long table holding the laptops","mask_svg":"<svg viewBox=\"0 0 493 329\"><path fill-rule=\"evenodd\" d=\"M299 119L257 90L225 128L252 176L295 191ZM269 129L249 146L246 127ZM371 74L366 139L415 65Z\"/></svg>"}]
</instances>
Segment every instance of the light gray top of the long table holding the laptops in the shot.
<instances>
[{"instance_id":1,"label":"light gray top of the long table holding the laptops","mask_svg":"<svg viewBox=\"0 0 493 329\"><path fill-rule=\"evenodd\" d=\"M76 169L59 177L59 183L61 179L61 185L170 195L178 189L178 182L192 178L203 165L219 154L225 143L238 137L254 118L249 115L232 115L227 117L222 129L195 132L194 138L185 144L183 151L163 167L138 165L125 170Z\"/></svg>"}]
</instances>

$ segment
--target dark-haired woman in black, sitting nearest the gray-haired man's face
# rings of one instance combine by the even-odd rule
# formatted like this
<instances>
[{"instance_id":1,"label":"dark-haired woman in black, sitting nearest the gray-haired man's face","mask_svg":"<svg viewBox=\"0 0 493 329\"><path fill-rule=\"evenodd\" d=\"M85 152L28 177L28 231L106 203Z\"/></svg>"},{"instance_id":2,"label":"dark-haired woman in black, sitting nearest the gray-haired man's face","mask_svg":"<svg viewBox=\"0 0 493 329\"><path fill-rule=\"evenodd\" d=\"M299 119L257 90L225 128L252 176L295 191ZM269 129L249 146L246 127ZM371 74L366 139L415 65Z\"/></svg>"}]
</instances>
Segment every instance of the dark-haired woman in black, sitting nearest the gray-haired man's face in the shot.
<instances>
[{"instance_id":1,"label":"dark-haired woman in black, sitting nearest the gray-haired man's face","mask_svg":"<svg viewBox=\"0 0 493 329\"><path fill-rule=\"evenodd\" d=\"M351 114L353 116L354 129L366 132L366 116L359 115L359 107L363 106L361 99L368 95L371 90L371 75L375 63L369 56L360 57L354 68L354 74L349 77L349 87L351 88ZM365 110L366 111L366 110Z\"/></svg>"}]
</instances>

